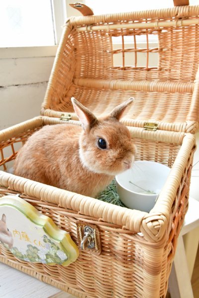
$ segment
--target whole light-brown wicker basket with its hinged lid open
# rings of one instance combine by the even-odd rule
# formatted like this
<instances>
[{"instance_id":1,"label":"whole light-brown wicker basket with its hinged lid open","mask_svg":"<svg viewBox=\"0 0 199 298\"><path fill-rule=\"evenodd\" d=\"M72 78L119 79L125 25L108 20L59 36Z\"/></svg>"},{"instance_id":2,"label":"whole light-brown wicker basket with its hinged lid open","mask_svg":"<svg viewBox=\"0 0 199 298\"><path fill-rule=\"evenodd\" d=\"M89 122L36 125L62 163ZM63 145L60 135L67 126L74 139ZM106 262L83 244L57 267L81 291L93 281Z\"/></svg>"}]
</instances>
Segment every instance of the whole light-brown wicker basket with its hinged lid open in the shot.
<instances>
[{"instance_id":1,"label":"whole light-brown wicker basket with its hinged lid open","mask_svg":"<svg viewBox=\"0 0 199 298\"><path fill-rule=\"evenodd\" d=\"M151 47L149 36L158 37ZM136 39L143 36L144 49ZM114 49L114 38L121 38ZM128 37L128 38L126 38ZM131 47L126 47L126 40ZM129 42L130 40L130 42ZM19 194L80 246L86 225L94 249L80 249L69 267L28 263L0 245L0 261L81 298L163 298L188 207L194 133L199 118L199 6L70 18L53 66L41 114L0 132L0 195ZM140 52L146 65L138 63ZM157 67L150 57L158 53ZM114 63L121 55L121 65ZM132 55L133 66L126 66ZM14 176L9 162L28 136L46 124L75 123L76 97L96 115L135 98L122 121L138 160L172 167L150 213L130 210Z\"/></svg>"}]
</instances>

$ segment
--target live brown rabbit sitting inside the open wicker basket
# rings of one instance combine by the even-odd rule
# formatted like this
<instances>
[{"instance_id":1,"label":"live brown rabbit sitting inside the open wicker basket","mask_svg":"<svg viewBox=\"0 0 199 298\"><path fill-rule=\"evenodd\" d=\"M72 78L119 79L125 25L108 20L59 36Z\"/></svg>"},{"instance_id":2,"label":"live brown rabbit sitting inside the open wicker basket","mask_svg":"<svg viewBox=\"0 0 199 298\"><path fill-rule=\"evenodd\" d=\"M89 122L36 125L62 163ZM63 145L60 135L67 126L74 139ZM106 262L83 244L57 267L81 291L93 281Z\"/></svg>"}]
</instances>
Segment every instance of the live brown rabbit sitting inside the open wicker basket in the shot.
<instances>
[{"instance_id":1,"label":"live brown rabbit sitting inside the open wicker basket","mask_svg":"<svg viewBox=\"0 0 199 298\"><path fill-rule=\"evenodd\" d=\"M118 120L132 98L106 117L96 118L75 98L82 127L46 125L19 150L14 174L85 196L96 197L114 178L131 167L135 157L130 132Z\"/></svg>"}]
</instances>

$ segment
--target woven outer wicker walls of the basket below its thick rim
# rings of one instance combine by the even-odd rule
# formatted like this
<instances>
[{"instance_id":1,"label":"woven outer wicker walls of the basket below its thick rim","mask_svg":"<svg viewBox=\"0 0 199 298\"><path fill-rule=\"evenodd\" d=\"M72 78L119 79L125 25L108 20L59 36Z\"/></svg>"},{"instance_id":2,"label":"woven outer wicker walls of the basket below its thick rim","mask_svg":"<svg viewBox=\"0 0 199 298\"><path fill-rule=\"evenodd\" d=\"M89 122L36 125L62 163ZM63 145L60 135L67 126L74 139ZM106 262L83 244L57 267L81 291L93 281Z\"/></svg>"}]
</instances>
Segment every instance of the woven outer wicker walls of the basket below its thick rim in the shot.
<instances>
[{"instance_id":1,"label":"woven outer wicker walls of the basket below its thick rim","mask_svg":"<svg viewBox=\"0 0 199 298\"><path fill-rule=\"evenodd\" d=\"M185 175L185 179L189 179ZM183 183L184 181L182 181ZM186 181L188 185L189 181ZM17 192L0 189L0 195ZM184 191L184 193L187 193ZM179 196L180 193L178 192ZM42 281L46 281L61 290L88 293L85 297L163 297L166 292L167 278L171 261L176 248L176 239L180 232L185 215L186 196L182 200L176 198L172 208L173 225L170 231L170 241L159 246L151 246L138 235L129 234L108 223L99 223L99 219L88 219L78 213L59 208L55 204L40 202L38 199L21 195L40 212L52 218L62 229L70 232L78 244L76 221L88 220L88 223L98 224L102 254L81 252L78 261L69 267L48 266L45 264L26 263L17 260L2 245L0 260L6 264L27 272ZM159 279L161 276L161 284ZM155 284L150 293L150 284ZM160 288L159 288L160 286ZM69 288L69 289L68 289ZM71 292L72 293L72 292ZM78 293L78 292L77 292ZM78 297L81 297L78 295Z\"/></svg>"}]
</instances>

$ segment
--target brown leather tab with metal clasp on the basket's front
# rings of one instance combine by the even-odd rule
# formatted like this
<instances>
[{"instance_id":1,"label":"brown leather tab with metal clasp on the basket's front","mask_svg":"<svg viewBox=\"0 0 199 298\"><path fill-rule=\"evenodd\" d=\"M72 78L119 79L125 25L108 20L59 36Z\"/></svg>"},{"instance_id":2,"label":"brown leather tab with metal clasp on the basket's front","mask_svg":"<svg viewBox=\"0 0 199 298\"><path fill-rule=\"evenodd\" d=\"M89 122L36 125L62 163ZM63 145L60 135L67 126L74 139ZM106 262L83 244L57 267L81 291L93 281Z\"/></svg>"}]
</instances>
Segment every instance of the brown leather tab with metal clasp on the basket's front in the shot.
<instances>
[{"instance_id":1,"label":"brown leather tab with metal clasp on the basket's front","mask_svg":"<svg viewBox=\"0 0 199 298\"><path fill-rule=\"evenodd\" d=\"M100 255L101 241L99 228L95 224L89 224L81 221L78 221L76 224L80 250Z\"/></svg>"}]
</instances>

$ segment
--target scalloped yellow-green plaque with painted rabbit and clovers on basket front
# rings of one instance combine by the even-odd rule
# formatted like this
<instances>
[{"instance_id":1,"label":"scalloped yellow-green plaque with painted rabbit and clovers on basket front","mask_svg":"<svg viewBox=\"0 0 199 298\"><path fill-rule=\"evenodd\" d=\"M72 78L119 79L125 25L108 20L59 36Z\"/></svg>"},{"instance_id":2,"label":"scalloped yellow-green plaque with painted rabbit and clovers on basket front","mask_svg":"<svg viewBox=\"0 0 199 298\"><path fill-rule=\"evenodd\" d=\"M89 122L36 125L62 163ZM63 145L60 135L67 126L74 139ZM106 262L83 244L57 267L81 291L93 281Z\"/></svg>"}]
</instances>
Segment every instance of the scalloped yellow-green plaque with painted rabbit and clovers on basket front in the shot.
<instances>
[{"instance_id":1,"label":"scalloped yellow-green plaque with painted rabbit and clovers on basket front","mask_svg":"<svg viewBox=\"0 0 199 298\"><path fill-rule=\"evenodd\" d=\"M0 198L0 242L27 262L68 266L79 256L68 232L16 196Z\"/></svg>"}]
</instances>

